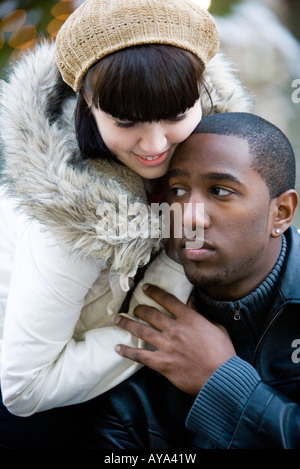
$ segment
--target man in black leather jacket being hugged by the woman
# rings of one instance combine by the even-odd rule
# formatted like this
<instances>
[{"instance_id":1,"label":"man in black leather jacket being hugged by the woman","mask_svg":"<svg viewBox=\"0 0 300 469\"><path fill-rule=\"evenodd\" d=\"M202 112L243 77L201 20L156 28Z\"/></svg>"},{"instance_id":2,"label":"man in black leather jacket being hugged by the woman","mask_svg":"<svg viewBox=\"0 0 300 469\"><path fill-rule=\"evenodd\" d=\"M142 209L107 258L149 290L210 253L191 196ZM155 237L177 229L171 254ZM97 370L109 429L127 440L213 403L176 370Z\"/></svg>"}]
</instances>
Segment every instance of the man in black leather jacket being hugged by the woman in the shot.
<instances>
[{"instance_id":1,"label":"man in black leather jacket being hugged by the woman","mask_svg":"<svg viewBox=\"0 0 300 469\"><path fill-rule=\"evenodd\" d=\"M196 210L182 217L183 226L202 226L203 246L191 247L183 235L171 253L194 285L194 305L146 285L172 317L141 305L135 315L149 325L116 318L155 350L117 347L146 367L104 397L107 412L116 409L101 417L108 447L174 447L177 432L173 444L193 448L300 448L294 185L290 143L251 114L207 117L177 149L170 203L204 203L200 220Z\"/></svg>"}]
</instances>

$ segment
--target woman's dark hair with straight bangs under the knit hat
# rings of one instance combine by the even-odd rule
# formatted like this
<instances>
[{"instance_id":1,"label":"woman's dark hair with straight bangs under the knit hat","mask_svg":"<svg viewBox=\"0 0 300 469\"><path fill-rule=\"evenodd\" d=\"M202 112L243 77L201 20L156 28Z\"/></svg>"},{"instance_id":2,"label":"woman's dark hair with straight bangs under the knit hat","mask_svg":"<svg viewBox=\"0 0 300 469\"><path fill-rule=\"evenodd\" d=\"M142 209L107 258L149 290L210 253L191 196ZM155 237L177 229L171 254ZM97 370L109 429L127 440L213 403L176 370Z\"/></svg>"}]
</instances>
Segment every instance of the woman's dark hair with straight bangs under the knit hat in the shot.
<instances>
[{"instance_id":1,"label":"woman's dark hair with straight bangs under the knit hat","mask_svg":"<svg viewBox=\"0 0 300 469\"><path fill-rule=\"evenodd\" d=\"M120 120L173 119L200 98L204 67L194 54L164 44L128 47L99 60L87 72L78 97L76 133L84 158L112 154L83 97Z\"/></svg>"}]
</instances>

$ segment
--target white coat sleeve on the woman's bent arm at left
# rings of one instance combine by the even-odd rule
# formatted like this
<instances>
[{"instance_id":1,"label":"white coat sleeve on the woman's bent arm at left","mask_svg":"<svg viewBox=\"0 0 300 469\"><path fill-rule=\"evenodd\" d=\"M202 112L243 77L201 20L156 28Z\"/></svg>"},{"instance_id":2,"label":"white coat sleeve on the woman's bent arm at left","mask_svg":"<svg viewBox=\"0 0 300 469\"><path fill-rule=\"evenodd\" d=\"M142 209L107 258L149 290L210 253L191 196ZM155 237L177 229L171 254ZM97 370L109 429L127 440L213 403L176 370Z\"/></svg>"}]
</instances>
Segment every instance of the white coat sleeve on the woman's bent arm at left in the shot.
<instances>
[{"instance_id":1,"label":"white coat sleeve on the woman's bent arm at left","mask_svg":"<svg viewBox=\"0 0 300 469\"><path fill-rule=\"evenodd\" d=\"M3 401L13 414L84 402L140 366L115 352L117 343L139 346L117 327L73 339L85 295L100 272L99 264L72 259L38 224L28 224L17 245L1 353Z\"/></svg>"}]
</instances>

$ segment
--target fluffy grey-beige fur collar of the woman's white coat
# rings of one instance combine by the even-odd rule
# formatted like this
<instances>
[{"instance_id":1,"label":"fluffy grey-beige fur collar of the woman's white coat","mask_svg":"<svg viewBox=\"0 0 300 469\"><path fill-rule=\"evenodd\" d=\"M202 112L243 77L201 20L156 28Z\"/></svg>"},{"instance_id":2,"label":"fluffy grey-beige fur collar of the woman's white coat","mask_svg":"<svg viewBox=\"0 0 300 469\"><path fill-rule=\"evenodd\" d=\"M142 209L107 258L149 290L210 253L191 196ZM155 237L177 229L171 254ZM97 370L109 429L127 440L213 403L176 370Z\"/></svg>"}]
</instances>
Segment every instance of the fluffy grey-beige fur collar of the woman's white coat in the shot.
<instances>
[{"instance_id":1,"label":"fluffy grey-beige fur collar of the woman's white coat","mask_svg":"<svg viewBox=\"0 0 300 469\"><path fill-rule=\"evenodd\" d=\"M213 112L249 110L251 100L221 54L208 65L206 83ZM54 44L46 41L25 54L13 66L8 82L1 83L2 183L19 209L42 223L71 254L105 260L110 272L120 274L126 283L149 261L160 239L145 235L139 215L131 216L139 229L125 239L99 231L97 208L108 203L118 210L120 194L128 204L145 203L142 181L113 162L82 161L74 134L76 96L71 88L67 96L62 89L66 87ZM208 113L207 97L202 104ZM107 222L113 212L108 210Z\"/></svg>"}]
</instances>

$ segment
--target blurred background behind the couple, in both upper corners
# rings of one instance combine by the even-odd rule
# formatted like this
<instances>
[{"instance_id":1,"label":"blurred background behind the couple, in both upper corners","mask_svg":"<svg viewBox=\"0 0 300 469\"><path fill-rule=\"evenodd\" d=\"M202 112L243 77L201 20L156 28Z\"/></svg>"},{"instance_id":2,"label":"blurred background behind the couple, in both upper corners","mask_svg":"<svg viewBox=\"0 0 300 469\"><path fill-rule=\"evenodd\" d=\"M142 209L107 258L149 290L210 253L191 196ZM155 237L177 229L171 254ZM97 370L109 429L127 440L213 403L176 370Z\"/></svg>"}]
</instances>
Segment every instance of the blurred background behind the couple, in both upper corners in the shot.
<instances>
[{"instance_id":1,"label":"blurred background behind the couple, in both upper corners","mask_svg":"<svg viewBox=\"0 0 300 469\"><path fill-rule=\"evenodd\" d=\"M215 17L221 50L255 99L254 112L290 139L300 193L300 1L194 0ZM27 48L52 40L82 0L0 1L0 79ZM282 168L284 171L284 168ZM300 228L300 209L295 224Z\"/></svg>"}]
</instances>

